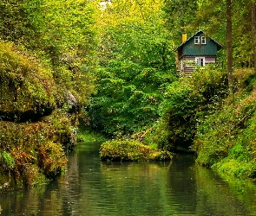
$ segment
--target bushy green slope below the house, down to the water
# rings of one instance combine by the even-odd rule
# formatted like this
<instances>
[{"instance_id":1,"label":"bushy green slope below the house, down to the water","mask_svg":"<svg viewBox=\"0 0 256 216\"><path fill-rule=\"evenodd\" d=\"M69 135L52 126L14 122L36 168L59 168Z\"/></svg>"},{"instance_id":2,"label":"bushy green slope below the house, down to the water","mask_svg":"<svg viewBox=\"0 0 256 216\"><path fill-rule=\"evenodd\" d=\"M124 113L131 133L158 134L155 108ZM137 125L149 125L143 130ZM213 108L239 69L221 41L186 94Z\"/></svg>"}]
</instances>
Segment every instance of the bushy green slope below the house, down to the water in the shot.
<instances>
[{"instance_id":1,"label":"bushy green slope below the house, down to the water","mask_svg":"<svg viewBox=\"0 0 256 216\"><path fill-rule=\"evenodd\" d=\"M160 149L187 148L201 166L239 178L256 177L256 75L234 71L229 92L221 69L203 69L167 88L161 119L146 139Z\"/></svg>"}]
</instances>

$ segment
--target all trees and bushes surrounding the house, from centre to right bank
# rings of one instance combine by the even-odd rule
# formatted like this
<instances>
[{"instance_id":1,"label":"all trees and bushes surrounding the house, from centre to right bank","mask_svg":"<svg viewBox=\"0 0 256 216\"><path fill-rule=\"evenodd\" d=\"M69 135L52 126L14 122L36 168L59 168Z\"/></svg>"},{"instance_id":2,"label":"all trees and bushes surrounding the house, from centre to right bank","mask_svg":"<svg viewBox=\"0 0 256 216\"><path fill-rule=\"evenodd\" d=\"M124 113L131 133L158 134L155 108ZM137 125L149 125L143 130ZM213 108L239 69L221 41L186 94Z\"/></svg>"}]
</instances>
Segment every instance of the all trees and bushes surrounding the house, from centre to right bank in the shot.
<instances>
[{"instance_id":1,"label":"all trees and bushes surrounding the house, from centre to right bank","mask_svg":"<svg viewBox=\"0 0 256 216\"><path fill-rule=\"evenodd\" d=\"M108 137L192 150L201 165L254 177L250 103L255 79L253 70L240 67L256 62L255 3L169 0L154 3L154 10L148 5L149 0L113 1L103 11L101 35L108 40L101 42L92 126ZM181 33L193 35L198 29L223 45L218 65L177 79L174 48ZM148 71L153 77L146 76ZM148 99L153 95L154 101Z\"/></svg>"}]
</instances>

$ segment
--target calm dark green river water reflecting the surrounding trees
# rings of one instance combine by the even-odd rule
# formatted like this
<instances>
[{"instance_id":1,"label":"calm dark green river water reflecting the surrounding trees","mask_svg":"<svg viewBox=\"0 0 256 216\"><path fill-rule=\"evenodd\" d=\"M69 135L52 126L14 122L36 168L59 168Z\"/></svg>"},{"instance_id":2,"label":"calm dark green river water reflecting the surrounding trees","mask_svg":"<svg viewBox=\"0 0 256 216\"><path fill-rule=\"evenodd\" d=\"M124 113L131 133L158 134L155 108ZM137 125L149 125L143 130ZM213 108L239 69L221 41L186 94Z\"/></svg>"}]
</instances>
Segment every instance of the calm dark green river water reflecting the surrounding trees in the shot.
<instances>
[{"instance_id":1,"label":"calm dark green river water reflecting the surrounding trees","mask_svg":"<svg viewBox=\"0 0 256 216\"><path fill-rule=\"evenodd\" d=\"M99 160L79 143L69 170L49 185L0 195L0 215L256 215L256 184L226 179L194 163Z\"/></svg>"}]
</instances>

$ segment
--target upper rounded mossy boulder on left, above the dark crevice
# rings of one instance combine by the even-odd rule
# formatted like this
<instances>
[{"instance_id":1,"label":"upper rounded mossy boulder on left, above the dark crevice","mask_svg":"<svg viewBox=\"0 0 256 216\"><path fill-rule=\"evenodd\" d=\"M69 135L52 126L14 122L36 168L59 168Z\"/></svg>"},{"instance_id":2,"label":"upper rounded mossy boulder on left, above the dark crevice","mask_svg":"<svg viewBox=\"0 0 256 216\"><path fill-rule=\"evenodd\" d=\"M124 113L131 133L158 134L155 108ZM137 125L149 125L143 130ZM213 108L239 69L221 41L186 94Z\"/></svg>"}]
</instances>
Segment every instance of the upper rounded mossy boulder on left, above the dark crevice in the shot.
<instances>
[{"instance_id":1,"label":"upper rounded mossy boulder on left, above the dark crevice","mask_svg":"<svg viewBox=\"0 0 256 216\"><path fill-rule=\"evenodd\" d=\"M0 115L16 120L49 114L56 107L52 72L11 43L0 41Z\"/></svg>"}]
</instances>

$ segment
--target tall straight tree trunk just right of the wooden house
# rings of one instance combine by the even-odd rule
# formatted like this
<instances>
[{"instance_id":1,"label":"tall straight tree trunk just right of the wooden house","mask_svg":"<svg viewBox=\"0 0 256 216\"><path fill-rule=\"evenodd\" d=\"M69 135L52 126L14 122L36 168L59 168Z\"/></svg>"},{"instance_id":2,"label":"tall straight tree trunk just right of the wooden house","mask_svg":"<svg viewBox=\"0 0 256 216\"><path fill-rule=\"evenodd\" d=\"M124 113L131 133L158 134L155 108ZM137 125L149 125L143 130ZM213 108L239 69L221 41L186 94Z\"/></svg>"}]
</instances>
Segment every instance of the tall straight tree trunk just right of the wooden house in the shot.
<instances>
[{"instance_id":1,"label":"tall straight tree trunk just right of the wooden house","mask_svg":"<svg viewBox=\"0 0 256 216\"><path fill-rule=\"evenodd\" d=\"M233 92L233 39L232 39L232 3L226 0L226 55L227 79L230 92Z\"/></svg>"}]
</instances>

